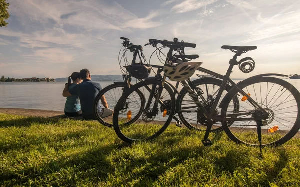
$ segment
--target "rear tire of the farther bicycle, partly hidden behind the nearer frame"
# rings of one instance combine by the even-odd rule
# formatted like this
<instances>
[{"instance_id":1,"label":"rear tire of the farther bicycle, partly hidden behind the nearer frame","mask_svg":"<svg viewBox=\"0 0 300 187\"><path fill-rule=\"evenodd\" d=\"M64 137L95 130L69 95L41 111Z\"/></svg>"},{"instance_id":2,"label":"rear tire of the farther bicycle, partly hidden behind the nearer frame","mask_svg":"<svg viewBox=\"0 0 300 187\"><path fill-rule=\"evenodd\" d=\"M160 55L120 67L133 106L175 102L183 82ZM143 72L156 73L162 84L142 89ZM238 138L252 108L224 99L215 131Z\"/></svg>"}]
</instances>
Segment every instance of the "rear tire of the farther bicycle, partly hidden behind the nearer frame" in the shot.
<instances>
[{"instance_id":1,"label":"rear tire of the farther bicycle, partly hidden behind the nearer frame","mask_svg":"<svg viewBox=\"0 0 300 187\"><path fill-rule=\"evenodd\" d=\"M220 79L216 79L216 78L202 78L202 79L196 79L194 81L192 81L192 85L193 85L193 90L199 86L199 85L203 85L203 84L214 84L214 85L217 85L217 86L221 86L222 84L222 80ZM227 86L225 87L225 90L228 92L230 89L232 88L232 86L230 86L229 84L227 84ZM177 97L177 100L176 100L176 109L177 111L181 109L182 107L182 102L183 102L183 99L184 99L184 96L188 94L187 92L187 89L183 88L178 97ZM220 101L219 101L220 102ZM237 98L235 98L235 103L236 105L234 106L234 108L236 108L236 110L239 110L239 101ZM196 129L196 130L199 130L199 131L205 131L206 129L201 129L200 127L198 128L197 126L195 127L194 125L191 125L184 117L183 113L182 112L177 112L180 120L182 121L182 123L189 129ZM211 129L210 132L220 132L220 131L223 131L223 127L222 125L220 125L220 127L217 127L215 129Z\"/></svg>"}]
</instances>

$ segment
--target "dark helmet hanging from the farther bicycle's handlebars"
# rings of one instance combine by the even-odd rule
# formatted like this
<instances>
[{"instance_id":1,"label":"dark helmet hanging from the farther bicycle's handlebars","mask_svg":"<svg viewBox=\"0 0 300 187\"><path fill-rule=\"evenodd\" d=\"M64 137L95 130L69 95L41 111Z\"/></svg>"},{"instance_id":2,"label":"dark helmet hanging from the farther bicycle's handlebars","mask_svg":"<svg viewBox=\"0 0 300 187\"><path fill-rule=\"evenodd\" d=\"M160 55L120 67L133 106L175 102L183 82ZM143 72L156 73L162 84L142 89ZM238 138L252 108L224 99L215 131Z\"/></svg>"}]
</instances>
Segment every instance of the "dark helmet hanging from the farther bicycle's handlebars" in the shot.
<instances>
[{"instance_id":1,"label":"dark helmet hanging from the farther bicycle's handlebars","mask_svg":"<svg viewBox=\"0 0 300 187\"><path fill-rule=\"evenodd\" d=\"M147 78L151 73L151 67L143 64L128 65L126 68L129 74L137 79Z\"/></svg>"}]
</instances>

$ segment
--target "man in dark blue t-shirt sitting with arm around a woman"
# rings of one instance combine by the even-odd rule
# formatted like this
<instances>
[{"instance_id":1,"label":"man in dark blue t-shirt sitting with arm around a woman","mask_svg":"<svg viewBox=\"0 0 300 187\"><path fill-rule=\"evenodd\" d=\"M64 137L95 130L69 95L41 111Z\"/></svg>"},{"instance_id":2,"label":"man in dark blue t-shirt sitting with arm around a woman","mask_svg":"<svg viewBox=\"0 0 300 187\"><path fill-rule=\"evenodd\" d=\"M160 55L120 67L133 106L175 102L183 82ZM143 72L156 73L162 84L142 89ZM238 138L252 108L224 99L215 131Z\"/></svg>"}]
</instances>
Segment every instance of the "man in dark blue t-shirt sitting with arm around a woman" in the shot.
<instances>
[{"instance_id":1,"label":"man in dark blue t-shirt sitting with arm around a woman","mask_svg":"<svg viewBox=\"0 0 300 187\"><path fill-rule=\"evenodd\" d=\"M68 90L68 86L66 86L62 95L63 97L78 95L83 118L85 120L96 120L96 117L93 113L93 102L99 91L102 90L102 87L99 83L91 81L88 69L82 69L80 71L80 76L83 82L71 88L70 90ZM102 117L112 115L113 110L108 108L108 104L104 95L101 97L101 102L105 108L100 108L100 111L98 111L100 112L100 115Z\"/></svg>"}]
</instances>

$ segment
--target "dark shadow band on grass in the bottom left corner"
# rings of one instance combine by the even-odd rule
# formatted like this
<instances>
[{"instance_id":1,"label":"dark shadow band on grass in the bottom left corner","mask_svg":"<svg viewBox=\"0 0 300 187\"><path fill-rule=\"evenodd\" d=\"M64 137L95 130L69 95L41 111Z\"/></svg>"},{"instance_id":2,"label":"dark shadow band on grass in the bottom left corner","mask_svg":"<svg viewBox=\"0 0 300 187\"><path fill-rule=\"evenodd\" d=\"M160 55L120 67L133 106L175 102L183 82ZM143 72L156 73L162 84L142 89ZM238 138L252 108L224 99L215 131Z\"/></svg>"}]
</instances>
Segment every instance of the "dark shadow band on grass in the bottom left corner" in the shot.
<instances>
[{"instance_id":1,"label":"dark shadow band on grass in the bottom left corner","mask_svg":"<svg viewBox=\"0 0 300 187\"><path fill-rule=\"evenodd\" d=\"M16 172L2 172L0 181L9 181L9 185L24 185L28 180L46 186L76 186L76 182L88 179L97 183L105 179L114 168L110 165L108 155L121 145L103 145L89 151L75 152L72 155L60 155L58 159L48 160L43 165L26 167ZM41 180L41 178L43 180ZM49 180L49 181L48 181ZM44 183L44 184L43 184Z\"/></svg>"}]
</instances>

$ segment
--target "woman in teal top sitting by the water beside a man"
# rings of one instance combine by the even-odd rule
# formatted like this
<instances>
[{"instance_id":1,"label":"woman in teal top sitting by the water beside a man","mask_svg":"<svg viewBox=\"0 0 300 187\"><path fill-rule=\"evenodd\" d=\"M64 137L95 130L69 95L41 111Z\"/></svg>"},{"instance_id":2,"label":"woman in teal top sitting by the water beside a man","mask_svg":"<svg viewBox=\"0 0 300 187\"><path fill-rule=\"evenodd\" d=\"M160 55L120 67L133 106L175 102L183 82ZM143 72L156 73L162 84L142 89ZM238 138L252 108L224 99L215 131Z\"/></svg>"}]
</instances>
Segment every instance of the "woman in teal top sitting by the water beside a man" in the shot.
<instances>
[{"instance_id":1,"label":"woman in teal top sitting by the water beside a man","mask_svg":"<svg viewBox=\"0 0 300 187\"><path fill-rule=\"evenodd\" d=\"M71 83L71 79L73 80L73 83ZM80 73L74 72L71 76L68 77L68 81L65 84L65 86L68 85L68 89L71 89L77 84L80 84L81 82L82 79L80 78ZM82 115L78 95L71 95L66 97L66 102L64 105L64 114L68 117L78 117Z\"/></svg>"}]
</instances>

